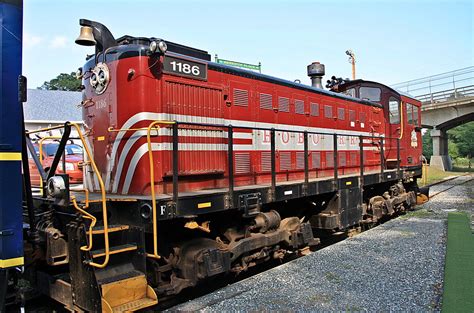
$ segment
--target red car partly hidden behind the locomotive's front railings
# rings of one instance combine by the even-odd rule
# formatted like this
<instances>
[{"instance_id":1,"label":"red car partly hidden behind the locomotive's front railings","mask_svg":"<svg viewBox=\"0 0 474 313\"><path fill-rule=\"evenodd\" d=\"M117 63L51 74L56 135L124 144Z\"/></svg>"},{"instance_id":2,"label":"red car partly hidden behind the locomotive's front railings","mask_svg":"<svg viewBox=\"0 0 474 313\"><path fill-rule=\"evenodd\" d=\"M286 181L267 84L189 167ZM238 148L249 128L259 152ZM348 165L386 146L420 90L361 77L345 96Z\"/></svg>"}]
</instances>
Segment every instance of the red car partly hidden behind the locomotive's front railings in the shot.
<instances>
[{"instance_id":1,"label":"red car partly hidden behind the locomotive's front railings","mask_svg":"<svg viewBox=\"0 0 474 313\"><path fill-rule=\"evenodd\" d=\"M49 169L53 163L54 155L58 149L59 143L44 143L42 147L42 164L45 171ZM35 144L36 155L39 157L39 145ZM83 149L76 144L66 145L66 173L69 174L69 182L71 184L82 184L82 162L84 160ZM40 174L36 167L35 161L30 156L29 160L30 176L32 186L40 186ZM58 164L57 173L64 173L62 159Z\"/></svg>"}]
</instances>

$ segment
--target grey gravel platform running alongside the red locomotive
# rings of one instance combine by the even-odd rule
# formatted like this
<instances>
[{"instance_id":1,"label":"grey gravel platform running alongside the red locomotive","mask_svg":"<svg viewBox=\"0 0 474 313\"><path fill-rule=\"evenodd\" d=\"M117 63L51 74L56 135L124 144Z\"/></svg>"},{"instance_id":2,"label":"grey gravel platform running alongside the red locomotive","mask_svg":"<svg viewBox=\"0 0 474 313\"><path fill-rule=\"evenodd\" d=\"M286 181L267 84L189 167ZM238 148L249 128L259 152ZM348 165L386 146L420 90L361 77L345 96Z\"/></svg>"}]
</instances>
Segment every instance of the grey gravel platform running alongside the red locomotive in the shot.
<instances>
[{"instance_id":1,"label":"grey gravel platform running alongside the red locomotive","mask_svg":"<svg viewBox=\"0 0 474 313\"><path fill-rule=\"evenodd\" d=\"M416 211L170 311L438 311L447 214L472 213L473 198L472 181L456 186Z\"/></svg>"}]
</instances>

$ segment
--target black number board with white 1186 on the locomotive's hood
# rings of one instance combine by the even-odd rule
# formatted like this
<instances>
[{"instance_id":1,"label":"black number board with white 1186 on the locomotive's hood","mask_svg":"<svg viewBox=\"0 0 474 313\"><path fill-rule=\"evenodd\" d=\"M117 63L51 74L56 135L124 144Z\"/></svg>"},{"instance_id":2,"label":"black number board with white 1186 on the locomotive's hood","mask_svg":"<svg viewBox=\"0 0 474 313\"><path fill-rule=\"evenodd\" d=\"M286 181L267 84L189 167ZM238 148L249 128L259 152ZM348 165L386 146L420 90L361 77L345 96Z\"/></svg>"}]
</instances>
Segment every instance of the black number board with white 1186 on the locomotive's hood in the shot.
<instances>
[{"instance_id":1,"label":"black number board with white 1186 on the locomotive's hood","mask_svg":"<svg viewBox=\"0 0 474 313\"><path fill-rule=\"evenodd\" d=\"M206 63L198 63L177 57L165 56L163 60L163 72L194 79L207 80Z\"/></svg>"}]
</instances>

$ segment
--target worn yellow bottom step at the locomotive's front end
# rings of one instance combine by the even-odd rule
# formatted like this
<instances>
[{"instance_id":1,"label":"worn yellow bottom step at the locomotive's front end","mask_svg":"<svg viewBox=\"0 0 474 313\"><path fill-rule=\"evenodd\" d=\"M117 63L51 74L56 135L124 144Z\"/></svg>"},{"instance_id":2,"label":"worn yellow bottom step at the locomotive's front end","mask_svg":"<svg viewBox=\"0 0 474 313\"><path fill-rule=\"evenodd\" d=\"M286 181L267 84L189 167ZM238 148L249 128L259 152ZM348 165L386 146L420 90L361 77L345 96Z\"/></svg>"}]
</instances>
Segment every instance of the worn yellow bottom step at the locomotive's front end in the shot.
<instances>
[{"instance_id":1,"label":"worn yellow bottom step at the locomotive's front end","mask_svg":"<svg viewBox=\"0 0 474 313\"><path fill-rule=\"evenodd\" d=\"M148 286L145 274L132 272L128 274L140 274L101 285L102 312L136 311L158 303L158 297Z\"/></svg>"}]
</instances>

